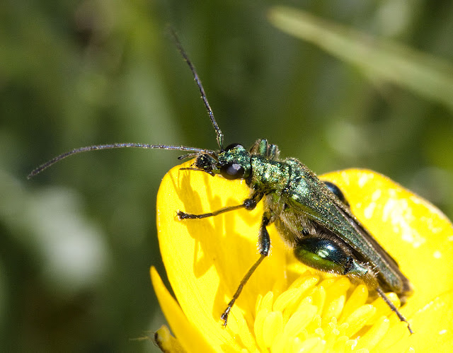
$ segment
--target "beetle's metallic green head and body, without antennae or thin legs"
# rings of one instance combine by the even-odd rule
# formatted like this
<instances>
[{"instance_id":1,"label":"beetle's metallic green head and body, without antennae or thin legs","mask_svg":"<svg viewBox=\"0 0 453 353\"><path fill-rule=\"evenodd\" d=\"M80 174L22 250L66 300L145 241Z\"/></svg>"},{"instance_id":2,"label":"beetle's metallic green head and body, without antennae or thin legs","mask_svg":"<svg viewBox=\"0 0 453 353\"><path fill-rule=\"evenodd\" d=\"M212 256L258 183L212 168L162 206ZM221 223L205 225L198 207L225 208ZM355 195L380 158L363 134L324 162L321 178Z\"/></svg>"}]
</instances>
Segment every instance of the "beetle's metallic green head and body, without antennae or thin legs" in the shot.
<instances>
[{"instance_id":1,"label":"beetle's metallic green head and body, without antennae or thin legs","mask_svg":"<svg viewBox=\"0 0 453 353\"><path fill-rule=\"evenodd\" d=\"M369 289L394 291L401 301L411 294L394 259L349 207L297 159L281 161L277 146L267 140L259 139L250 151L233 144L202 154L195 166L212 175L246 180L251 199L263 199L268 223L275 224L299 261L316 270L348 275Z\"/></svg>"}]
</instances>

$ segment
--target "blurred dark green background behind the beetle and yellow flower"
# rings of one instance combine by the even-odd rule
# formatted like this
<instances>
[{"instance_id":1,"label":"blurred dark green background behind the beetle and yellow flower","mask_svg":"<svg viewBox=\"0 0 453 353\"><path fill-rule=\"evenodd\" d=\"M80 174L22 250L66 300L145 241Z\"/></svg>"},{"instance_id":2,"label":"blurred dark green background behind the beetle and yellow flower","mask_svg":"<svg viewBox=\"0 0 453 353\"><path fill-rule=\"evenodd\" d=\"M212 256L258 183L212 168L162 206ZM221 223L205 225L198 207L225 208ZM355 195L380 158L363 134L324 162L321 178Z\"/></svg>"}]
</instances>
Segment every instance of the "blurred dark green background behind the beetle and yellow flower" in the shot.
<instances>
[{"instance_id":1,"label":"blurred dark green background behind the beetle and yellow flower","mask_svg":"<svg viewBox=\"0 0 453 353\"><path fill-rule=\"evenodd\" d=\"M451 1L283 3L430 54L420 64L391 52L421 65L420 90L384 79L386 64L379 74L331 55L316 42L324 36L283 33L268 21L276 1L1 1L2 352L156 349L148 338L165 319L149 280L151 265L164 273L154 204L178 153L91 152L26 175L91 144L216 148L168 24L226 144L267 138L316 173L377 170L452 217ZM440 89L423 93L436 73Z\"/></svg>"}]
</instances>

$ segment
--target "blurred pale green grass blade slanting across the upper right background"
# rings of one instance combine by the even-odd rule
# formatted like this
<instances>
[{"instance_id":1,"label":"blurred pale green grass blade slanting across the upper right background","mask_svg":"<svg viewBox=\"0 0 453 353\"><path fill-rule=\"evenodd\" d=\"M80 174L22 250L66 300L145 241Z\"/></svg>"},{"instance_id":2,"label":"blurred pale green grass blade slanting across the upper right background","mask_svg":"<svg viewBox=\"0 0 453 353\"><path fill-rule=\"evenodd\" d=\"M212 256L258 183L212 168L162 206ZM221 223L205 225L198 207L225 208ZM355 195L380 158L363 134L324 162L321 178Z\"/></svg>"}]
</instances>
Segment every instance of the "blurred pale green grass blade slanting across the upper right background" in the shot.
<instances>
[{"instance_id":1,"label":"blurred pale green grass blade slanting across the upper right background","mask_svg":"<svg viewBox=\"0 0 453 353\"><path fill-rule=\"evenodd\" d=\"M453 65L429 54L285 6L269 11L280 30L354 64L367 76L407 88L453 110Z\"/></svg>"}]
</instances>

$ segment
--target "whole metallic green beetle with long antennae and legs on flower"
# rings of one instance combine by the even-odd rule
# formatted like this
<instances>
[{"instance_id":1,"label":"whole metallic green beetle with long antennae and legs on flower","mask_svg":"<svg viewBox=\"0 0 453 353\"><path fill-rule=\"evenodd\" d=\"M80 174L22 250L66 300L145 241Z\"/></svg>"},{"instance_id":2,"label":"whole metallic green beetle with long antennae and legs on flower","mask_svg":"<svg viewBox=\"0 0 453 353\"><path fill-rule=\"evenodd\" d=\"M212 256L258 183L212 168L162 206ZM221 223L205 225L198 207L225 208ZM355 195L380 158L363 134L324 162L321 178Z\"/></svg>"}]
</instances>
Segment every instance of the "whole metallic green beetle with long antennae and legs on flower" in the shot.
<instances>
[{"instance_id":1,"label":"whole metallic green beetle with long antennae and legs on flower","mask_svg":"<svg viewBox=\"0 0 453 353\"><path fill-rule=\"evenodd\" d=\"M343 192L333 183L319 180L314 172L295 158L280 158L280 150L267 139L258 139L250 150L241 144L224 147L224 135L214 119L200 78L183 50L176 33L171 32L180 54L192 71L201 98L210 117L217 137L218 151L188 146L165 144L103 144L73 149L52 158L33 170L28 178L40 173L67 156L84 151L138 147L144 149L168 149L186 151L178 158L194 158L189 170L200 170L212 176L222 175L227 180L245 180L250 195L236 206L224 207L206 214L190 214L178 211L180 220L203 219L236 209L252 210L258 202L264 202L264 213L258 235L260 257L246 272L238 289L222 313L226 326L231 308L239 298L243 287L256 268L270 253L268 226L275 224L282 239L292 249L300 262L332 274L345 275L352 282L363 282L376 291L398 318L406 318L384 293L393 291L401 303L412 294L409 280L397 262L372 237L367 228L352 214ZM408 324L409 332L413 333Z\"/></svg>"}]
</instances>

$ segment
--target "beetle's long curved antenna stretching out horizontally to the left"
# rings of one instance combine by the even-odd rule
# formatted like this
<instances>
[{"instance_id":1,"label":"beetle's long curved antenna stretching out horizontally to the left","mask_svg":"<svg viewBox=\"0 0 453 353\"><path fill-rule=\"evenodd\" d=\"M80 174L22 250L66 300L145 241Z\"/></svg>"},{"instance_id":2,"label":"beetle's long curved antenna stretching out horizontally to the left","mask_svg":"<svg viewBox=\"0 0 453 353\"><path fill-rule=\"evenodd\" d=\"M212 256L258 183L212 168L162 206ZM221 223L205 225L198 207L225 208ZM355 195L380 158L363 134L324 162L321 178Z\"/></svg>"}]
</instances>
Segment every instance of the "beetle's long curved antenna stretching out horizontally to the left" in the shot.
<instances>
[{"instance_id":1,"label":"beetle's long curved antenna stretching out horizontally to the left","mask_svg":"<svg viewBox=\"0 0 453 353\"><path fill-rule=\"evenodd\" d=\"M80 147L79 149L73 149L72 151L65 152L64 154L60 154L52 158L50 161L41 164L38 168L33 170L30 174L28 174L27 178L33 178L38 173L41 173L42 170L49 168L52 164L61 161L62 159L69 157L73 154L79 154L80 152L87 152L87 151L96 151L99 149L120 149L122 147L137 147L140 149L173 149L177 151L189 151L190 154L186 156L193 156L194 154L213 154L214 151L210 151L209 149L197 149L196 147L186 147L186 146L169 146L166 144L134 144L130 142L125 142L123 144L98 144L96 146L86 146Z\"/></svg>"}]
</instances>

